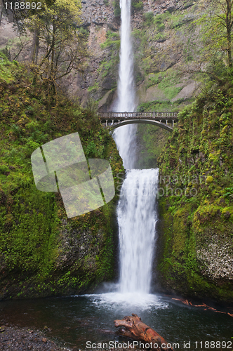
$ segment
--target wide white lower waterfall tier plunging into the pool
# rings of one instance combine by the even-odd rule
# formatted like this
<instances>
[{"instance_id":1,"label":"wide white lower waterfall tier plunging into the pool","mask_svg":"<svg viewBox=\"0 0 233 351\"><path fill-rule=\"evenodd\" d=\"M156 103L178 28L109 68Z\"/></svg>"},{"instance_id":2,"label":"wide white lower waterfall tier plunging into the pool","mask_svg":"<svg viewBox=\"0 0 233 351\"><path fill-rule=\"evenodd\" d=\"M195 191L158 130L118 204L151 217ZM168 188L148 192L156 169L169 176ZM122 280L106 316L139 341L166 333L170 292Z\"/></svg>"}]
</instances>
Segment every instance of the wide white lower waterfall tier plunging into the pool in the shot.
<instances>
[{"instance_id":1,"label":"wide white lower waterfall tier plunging into the pool","mask_svg":"<svg viewBox=\"0 0 233 351\"><path fill-rule=\"evenodd\" d=\"M149 293L159 169L131 169L117 208L121 293Z\"/></svg>"}]
</instances>

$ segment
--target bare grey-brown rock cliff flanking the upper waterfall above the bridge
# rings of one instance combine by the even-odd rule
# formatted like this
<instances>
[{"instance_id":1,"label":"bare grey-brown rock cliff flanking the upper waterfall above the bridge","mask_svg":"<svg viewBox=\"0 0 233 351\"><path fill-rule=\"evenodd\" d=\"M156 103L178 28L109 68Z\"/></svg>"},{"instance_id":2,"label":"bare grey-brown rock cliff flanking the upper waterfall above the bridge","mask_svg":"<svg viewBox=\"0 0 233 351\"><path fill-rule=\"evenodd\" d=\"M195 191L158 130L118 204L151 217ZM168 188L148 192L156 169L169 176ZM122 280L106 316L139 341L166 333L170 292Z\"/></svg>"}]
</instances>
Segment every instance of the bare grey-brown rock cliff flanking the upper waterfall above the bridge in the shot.
<instances>
[{"instance_id":1,"label":"bare grey-brown rock cliff flanking the upper waterfall above the bridge","mask_svg":"<svg viewBox=\"0 0 233 351\"><path fill-rule=\"evenodd\" d=\"M135 81L138 104L149 104L145 110L151 110L157 101L167 102L166 110L174 110L197 93L197 77L180 72L178 66L197 55L198 46L194 49L197 28L190 23L198 12L198 2L132 1ZM119 4L86 1L83 19L89 32L91 60L81 88L77 80L73 86L79 88L70 92L78 93L83 104L90 96L98 100L100 111L111 110L118 79Z\"/></svg>"}]
</instances>

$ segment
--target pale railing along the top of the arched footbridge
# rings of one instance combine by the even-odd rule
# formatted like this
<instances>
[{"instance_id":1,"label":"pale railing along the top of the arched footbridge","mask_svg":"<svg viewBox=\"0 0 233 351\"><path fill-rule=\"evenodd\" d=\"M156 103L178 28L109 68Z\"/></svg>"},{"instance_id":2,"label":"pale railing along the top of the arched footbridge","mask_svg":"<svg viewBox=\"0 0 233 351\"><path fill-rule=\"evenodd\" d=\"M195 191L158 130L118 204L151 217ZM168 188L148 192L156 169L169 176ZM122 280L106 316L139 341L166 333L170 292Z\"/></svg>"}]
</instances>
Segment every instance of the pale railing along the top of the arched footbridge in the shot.
<instances>
[{"instance_id":1,"label":"pale railing along the top of the arched footbridge","mask_svg":"<svg viewBox=\"0 0 233 351\"><path fill-rule=\"evenodd\" d=\"M177 112L101 112L102 119L177 119Z\"/></svg>"}]
</instances>

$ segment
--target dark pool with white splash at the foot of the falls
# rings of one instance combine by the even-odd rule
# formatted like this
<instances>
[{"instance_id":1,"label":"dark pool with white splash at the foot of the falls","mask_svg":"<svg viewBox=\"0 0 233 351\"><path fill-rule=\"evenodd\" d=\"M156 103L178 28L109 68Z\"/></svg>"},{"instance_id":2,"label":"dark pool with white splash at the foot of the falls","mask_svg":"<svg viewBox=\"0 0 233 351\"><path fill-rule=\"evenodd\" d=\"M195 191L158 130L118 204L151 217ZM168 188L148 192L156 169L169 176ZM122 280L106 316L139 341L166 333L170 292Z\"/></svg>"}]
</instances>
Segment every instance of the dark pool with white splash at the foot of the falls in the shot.
<instances>
[{"instance_id":1,"label":"dark pool with white splash at the foot of the falls","mask_svg":"<svg viewBox=\"0 0 233 351\"><path fill-rule=\"evenodd\" d=\"M169 343L179 343L180 350L201 350L202 341L203 350L232 351L233 318L227 312L232 314L233 310L225 307L220 311L226 313L187 306L166 296L106 293L2 301L0 322L37 329L47 326L51 329L48 336L58 338L67 347L84 348L87 341L124 342L126 339L115 334L114 319L136 313ZM184 347L183 343L189 341L191 347Z\"/></svg>"}]
</instances>

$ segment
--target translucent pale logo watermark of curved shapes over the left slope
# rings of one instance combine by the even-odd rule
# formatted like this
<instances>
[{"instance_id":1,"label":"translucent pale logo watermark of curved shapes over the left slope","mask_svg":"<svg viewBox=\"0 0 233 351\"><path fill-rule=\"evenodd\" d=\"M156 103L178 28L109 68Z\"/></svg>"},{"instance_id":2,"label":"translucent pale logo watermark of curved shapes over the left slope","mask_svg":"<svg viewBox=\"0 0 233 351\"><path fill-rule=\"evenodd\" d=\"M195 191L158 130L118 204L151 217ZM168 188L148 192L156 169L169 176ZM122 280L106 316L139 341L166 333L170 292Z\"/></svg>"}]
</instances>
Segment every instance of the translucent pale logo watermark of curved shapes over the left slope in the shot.
<instances>
[{"instance_id":1,"label":"translucent pale logo watermark of curved shapes over the left slope","mask_svg":"<svg viewBox=\"0 0 233 351\"><path fill-rule=\"evenodd\" d=\"M86 159L79 133L72 133L38 147L31 156L36 188L58 192L68 218L107 204L115 195L109 161Z\"/></svg>"}]
</instances>

